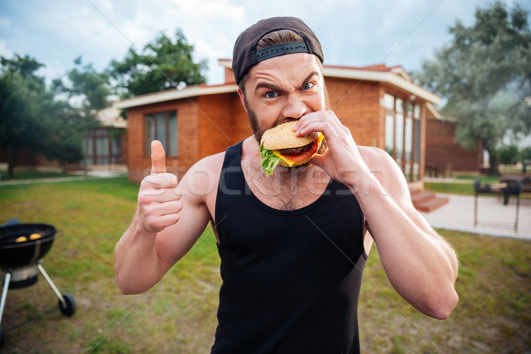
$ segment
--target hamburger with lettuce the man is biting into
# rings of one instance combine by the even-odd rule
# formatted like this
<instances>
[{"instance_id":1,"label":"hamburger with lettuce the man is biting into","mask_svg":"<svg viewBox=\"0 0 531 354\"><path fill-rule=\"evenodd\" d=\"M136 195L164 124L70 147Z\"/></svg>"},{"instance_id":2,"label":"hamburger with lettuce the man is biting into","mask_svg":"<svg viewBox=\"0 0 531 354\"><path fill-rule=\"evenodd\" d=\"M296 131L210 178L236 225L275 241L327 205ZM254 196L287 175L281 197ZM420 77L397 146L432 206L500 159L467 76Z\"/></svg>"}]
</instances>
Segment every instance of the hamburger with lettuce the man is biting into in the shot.
<instances>
[{"instance_id":1,"label":"hamburger with lettuce the man is biting into","mask_svg":"<svg viewBox=\"0 0 531 354\"><path fill-rule=\"evenodd\" d=\"M295 167L304 165L317 153L326 149L324 136L320 132L312 132L306 136L296 136L293 126L296 121L280 124L266 130L260 142L262 168L266 175L273 173L277 165Z\"/></svg>"}]
</instances>

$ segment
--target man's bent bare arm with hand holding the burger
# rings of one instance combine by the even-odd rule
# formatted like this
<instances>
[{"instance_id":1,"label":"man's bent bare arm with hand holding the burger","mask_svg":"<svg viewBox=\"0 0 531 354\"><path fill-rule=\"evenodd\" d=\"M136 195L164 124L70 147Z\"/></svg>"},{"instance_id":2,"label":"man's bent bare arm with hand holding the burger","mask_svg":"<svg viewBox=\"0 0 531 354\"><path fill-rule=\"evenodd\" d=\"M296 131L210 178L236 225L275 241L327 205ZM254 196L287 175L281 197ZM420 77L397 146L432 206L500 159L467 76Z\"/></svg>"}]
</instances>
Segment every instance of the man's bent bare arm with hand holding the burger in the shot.
<instances>
[{"instance_id":1,"label":"man's bent bare arm with hand holding the burger","mask_svg":"<svg viewBox=\"0 0 531 354\"><path fill-rule=\"evenodd\" d=\"M297 133L311 131L323 132L329 148L312 163L357 196L393 287L420 312L447 318L458 303L457 257L414 209L404 174L385 151L358 149L333 112L300 119Z\"/></svg>"}]
</instances>

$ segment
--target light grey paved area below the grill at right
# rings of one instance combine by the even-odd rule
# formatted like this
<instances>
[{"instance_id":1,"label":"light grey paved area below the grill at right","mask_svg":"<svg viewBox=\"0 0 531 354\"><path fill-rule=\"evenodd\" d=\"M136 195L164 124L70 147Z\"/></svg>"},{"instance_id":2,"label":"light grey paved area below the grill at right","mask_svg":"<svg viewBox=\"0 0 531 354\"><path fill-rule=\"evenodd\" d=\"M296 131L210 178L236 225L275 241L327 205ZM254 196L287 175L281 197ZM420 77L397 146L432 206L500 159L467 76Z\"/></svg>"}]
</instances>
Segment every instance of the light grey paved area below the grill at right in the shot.
<instances>
[{"instance_id":1,"label":"light grey paved area below the grill at right","mask_svg":"<svg viewBox=\"0 0 531 354\"><path fill-rule=\"evenodd\" d=\"M478 224L474 226L474 196L456 196L439 193L450 198L450 203L434 212L423 212L427 222L436 228L466 231L469 233L516 237L531 240L531 200L520 199L518 229L515 230L516 198L504 205L503 198L478 197Z\"/></svg>"}]
</instances>

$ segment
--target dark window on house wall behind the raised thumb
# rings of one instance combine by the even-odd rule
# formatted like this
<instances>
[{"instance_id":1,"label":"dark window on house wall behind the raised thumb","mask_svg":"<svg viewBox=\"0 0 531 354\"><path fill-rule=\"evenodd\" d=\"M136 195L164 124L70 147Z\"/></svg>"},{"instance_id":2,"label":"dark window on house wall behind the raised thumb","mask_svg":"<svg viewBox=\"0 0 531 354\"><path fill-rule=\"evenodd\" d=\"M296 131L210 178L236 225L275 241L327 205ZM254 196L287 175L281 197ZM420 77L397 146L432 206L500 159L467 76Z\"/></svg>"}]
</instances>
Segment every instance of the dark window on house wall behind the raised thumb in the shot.
<instances>
[{"instance_id":1,"label":"dark window on house wall behind the raised thumb","mask_svg":"<svg viewBox=\"0 0 531 354\"><path fill-rule=\"evenodd\" d=\"M151 142L158 140L164 146L166 156L176 157L179 153L177 112L158 112L145 117L145 153L151 154Z\"/></svg>"}]
</instances>

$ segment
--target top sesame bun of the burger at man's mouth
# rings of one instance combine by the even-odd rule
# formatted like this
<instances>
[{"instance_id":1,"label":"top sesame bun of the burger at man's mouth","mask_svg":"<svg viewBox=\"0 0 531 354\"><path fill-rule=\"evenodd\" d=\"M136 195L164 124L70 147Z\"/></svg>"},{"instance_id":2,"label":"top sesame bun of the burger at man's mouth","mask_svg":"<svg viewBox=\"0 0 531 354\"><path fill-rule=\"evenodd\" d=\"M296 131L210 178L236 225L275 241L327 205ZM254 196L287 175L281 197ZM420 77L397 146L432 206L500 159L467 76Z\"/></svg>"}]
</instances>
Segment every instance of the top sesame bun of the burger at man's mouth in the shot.
<instances>
[{"instance_id":1,"label":"top sesame bun of the burger at man's mouth","mask_svg":"<svg viewBox=\"0 0 531 354\"><path fill-rule=\"evenodd\" d=\"M296 120L280 124L276 127L266 130L262 135L261 144L267 150L281 150L289 148L299 148L307 145L318 138L319 133L312 132L306 136L296 136L293 126Z\"/></svg>"}]
</instances>

